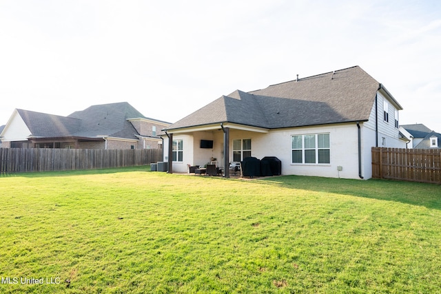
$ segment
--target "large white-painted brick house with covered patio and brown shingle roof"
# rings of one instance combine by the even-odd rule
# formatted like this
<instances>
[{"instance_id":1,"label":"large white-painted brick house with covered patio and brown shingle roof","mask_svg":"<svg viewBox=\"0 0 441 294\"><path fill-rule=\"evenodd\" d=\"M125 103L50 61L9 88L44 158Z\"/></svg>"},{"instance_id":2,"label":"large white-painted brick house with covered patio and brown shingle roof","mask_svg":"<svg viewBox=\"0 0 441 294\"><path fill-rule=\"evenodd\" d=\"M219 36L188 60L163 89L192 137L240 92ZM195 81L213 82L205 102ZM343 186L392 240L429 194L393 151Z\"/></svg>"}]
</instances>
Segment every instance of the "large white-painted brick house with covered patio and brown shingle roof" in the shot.
<instances>
[{"instance_id":1,"label":"large white-painted brick house with covered patio and brown shingle roof","mask_svg":"<svg viewBox=\"0 0 441 294\"><path fill-rule=\"evenodd\" d=\"M368 179L371 147L406 146L401 109L358 66L237 90L166 127L164 160L172 159L169 170L183 172L212 158L225 168L247 156L276 156L285 175Z\"/></svg>"}]
</instances>

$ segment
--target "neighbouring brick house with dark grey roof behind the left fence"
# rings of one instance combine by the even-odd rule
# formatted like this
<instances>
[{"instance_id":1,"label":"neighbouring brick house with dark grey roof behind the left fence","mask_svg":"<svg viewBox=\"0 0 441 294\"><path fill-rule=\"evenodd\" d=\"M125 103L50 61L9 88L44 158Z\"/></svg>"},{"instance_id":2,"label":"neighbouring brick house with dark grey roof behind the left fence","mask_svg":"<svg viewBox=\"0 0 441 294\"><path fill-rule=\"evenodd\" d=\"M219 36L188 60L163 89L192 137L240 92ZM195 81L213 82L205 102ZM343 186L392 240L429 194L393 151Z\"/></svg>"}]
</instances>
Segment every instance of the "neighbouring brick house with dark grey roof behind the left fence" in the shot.
<instances>
[{"instance_id":1,"label":"neighbouring brick house with dark grey roof behind the left fence","mask_svg":"<svg viewBox=\"0 0 441 294\"><path fill-rule=\"evenodd\" d=\"M0 138L11 148L162 148L158 132L168 125L127 102L93 105L69 116L15 109Z\"/></svg>"}]
</instances>

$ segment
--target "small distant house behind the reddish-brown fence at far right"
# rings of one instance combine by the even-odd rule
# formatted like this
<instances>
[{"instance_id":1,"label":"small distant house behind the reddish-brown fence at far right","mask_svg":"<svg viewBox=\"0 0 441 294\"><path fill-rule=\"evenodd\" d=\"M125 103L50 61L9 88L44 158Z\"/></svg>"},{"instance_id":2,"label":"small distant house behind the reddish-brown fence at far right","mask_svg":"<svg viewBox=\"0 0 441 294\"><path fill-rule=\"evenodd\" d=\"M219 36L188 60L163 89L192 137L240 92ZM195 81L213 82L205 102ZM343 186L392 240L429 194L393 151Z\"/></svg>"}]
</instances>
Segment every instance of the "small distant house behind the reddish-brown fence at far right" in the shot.
<instances>
[{"instance_id":1,"label":"small distant house behind the reddish-brown fence at far right","mask_svg":"<svg viewBox=\"0 0 441 294\"><path fill-rule=\"evenodd\" d=\"M410 135L411 142L407 145L413 149L441 149L441 134L422 123L401 125L400 131Z\"/></svg>"}]
</instances>

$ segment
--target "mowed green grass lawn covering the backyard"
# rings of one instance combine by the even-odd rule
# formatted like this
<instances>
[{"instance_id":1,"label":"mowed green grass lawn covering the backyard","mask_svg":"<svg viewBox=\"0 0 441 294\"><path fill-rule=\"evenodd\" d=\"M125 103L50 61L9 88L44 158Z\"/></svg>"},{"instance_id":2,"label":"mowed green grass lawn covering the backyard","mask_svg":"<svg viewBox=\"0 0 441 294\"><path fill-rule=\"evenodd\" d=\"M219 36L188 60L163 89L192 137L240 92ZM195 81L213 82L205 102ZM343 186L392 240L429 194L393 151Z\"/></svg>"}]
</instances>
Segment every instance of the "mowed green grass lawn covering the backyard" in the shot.
<instances>
[{"instance_id":1,"label":"mowed green grass lawn covering the backyard","mask_svg":"<svg viewBox=\"0 0 441 294\"><path fill-rule=\"evenodd\" d=\"M0 201L0 293L441 288L440 185L134 167L1 176Z\"/></svg>"}]
</instances>

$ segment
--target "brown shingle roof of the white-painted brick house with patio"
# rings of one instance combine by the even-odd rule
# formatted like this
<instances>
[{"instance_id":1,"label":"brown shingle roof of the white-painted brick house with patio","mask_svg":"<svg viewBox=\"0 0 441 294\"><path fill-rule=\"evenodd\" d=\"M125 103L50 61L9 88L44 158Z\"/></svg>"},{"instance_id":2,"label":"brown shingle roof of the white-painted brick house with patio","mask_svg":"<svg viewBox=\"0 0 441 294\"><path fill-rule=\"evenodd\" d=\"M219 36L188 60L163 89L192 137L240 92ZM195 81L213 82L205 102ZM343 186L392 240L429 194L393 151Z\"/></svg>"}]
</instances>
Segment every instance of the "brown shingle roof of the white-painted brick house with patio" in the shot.
<instances>
[{"instance_id":1,"label":"brown shingle roof of the white-painted brick house with patio","mask_svg":"<svg viewBox=\"0 0 441 294\"><path fill-rule=\"evenodd\" d=\"M365 121L380 87L360 67L349 67L270 85L263 90L248 93L236 90L166 129L225 122L276 129ZM402 109L392 96L389 98Z\"/></svg>"}]
</instances>

